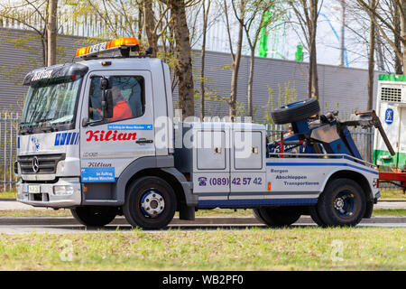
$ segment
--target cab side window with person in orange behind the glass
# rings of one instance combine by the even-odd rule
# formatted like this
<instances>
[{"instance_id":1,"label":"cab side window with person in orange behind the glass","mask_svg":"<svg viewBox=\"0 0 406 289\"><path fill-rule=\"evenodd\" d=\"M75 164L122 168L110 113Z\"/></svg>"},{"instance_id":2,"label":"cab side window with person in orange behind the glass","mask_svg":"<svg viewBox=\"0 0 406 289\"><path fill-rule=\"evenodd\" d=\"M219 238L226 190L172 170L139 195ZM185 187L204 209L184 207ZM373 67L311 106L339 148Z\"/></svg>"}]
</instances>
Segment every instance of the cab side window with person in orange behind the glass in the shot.
<instances>
[{"instance_id":1,"label":"cab side window with person in orange behind the glass","mask_svg":"<svg viewBox=\"0 0 406 289\"><path fill-rule=\"evenodd\" d=\"M142 117L145 112L144 79L141 76L115 76L112 87L113 117L107 122ZM90 123L103 119L103 91L100 89L100 77L91 79L88 118Z\"/></svg>"}]
</instances>

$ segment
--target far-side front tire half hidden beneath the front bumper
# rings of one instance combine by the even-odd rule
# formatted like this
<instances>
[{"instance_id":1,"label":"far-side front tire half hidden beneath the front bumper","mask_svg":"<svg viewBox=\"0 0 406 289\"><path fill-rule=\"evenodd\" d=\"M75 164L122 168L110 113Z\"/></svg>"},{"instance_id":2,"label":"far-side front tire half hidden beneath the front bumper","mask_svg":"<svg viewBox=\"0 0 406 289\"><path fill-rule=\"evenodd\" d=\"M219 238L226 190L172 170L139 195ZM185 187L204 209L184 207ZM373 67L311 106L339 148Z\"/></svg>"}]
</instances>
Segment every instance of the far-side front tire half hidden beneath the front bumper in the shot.
<instances>
[{"instance_id":1,"label":"far-side front tire half hidden beneath the front bumper","mask_svg":"<svg viewBox=\"0 0 406 289\"><path fill-rule=\"evenodd\" d=\"M117 215L116 207L78 207L71 209L72 216L82 225L88 227L103 227Z\"/></svg>"}]
</instances>

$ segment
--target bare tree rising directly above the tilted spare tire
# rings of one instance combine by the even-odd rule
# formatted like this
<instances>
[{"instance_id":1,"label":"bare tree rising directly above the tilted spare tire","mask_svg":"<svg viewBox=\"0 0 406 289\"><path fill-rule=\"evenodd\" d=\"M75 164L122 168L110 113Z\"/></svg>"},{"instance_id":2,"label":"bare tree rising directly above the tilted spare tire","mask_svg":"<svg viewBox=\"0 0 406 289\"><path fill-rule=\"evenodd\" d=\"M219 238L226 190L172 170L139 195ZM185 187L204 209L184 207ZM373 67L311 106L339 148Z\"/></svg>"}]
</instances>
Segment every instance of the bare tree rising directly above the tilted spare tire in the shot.
<instances>
[{"instance_id":1,"label":"bare tree rising directly above the tilted spare tire","mask_svg":"<svg viewBox=\"0 0 406 289\"><path fill-rule=\"evenodd\" d=\"M305 36L309 50L308 97L319 98L316 35L318 28L318 12L323 5L323 0L289 0L289 4L298 18L300 28Z\"/></svg>"}]
</instances>

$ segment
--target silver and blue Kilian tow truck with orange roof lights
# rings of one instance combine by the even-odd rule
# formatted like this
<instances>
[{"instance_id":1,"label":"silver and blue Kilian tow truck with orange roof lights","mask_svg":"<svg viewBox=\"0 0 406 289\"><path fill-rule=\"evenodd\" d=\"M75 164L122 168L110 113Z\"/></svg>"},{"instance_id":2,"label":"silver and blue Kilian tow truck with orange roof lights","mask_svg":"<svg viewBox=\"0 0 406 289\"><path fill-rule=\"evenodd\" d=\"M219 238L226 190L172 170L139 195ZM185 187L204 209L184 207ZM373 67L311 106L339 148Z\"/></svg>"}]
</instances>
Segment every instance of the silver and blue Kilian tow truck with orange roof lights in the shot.
<instances>
[{"instance_id":1,"label":"silver and blue Kilian tow truck with orange roof lights","mask_svg":"<svg viewBox=\"0 0 406 289\"><path fill-rule=\"evenodd\" d=\"M347 126L317 99L272 111L293 135L267 142L265 126L173 117L171 73L133 37L78 49L74 61L33 70L17 139L17 200L69 209L86 226L117 215L166 227L179 211L252 209L271 227L310 215L355 226L380 197L379 173ZM131 111L128 111L130 109ZM366 116L366 117L365 117Z\"/></svg>"}]
</instances>

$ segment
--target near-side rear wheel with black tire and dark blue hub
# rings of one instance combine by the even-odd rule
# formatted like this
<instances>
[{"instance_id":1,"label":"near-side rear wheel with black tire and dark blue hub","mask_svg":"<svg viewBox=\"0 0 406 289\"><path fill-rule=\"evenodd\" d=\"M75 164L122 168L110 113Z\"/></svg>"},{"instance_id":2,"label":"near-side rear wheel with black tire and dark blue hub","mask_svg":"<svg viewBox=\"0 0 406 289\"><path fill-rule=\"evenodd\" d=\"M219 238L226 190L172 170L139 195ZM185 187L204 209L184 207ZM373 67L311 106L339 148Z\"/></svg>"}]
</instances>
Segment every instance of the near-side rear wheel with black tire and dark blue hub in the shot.
<instances>
[{"instance_id":1,"label":"near-side rear wheel with black tire and dark blue hub","mask_svg":"<svg viewBox=\"0 0 406 289\"><path fill-rule=\"evenodd\" d=\"M355 226L363 219L365 209L364 191L358 183L350 179L328 182L318 198L318 216L327 226Z\"/></svg>"}]
</instances>

